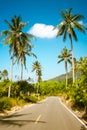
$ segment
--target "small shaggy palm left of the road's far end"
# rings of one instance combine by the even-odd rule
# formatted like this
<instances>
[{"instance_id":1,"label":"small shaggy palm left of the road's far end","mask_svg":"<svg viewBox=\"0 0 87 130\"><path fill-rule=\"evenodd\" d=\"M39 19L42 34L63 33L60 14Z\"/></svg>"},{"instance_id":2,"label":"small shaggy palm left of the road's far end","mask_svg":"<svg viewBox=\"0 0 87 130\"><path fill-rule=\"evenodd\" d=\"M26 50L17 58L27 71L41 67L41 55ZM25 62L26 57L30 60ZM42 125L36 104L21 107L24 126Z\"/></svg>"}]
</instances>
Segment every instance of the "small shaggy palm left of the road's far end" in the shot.
<instances>
[{"instance_id":1,"label":"small shaggy palm left of the road's far end","mask_svg":"<svg viewBox=\"0 0 87 130\"><path fill-rule=\"evenodd\" d=\"M36 71L36 75L37 75L37 83L38 83L38 86L37 86L37 94L38 94L38 91L39 91L39 87L40 87L40 82L41 82L41 76L42 76L42 71L41 71L41 65L38 61L35 61L32 65L32 72L33 71Z\"/></svg>"}]
</instances>

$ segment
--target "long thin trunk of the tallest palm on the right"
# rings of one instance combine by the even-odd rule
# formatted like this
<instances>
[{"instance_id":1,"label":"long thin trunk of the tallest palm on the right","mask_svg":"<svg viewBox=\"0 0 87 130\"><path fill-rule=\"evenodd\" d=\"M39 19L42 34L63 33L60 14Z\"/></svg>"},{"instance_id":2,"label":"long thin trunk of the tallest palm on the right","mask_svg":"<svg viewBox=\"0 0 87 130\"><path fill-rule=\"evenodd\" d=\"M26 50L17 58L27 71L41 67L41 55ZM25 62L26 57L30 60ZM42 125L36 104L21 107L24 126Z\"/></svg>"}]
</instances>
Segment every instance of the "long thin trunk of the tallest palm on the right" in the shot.
<instances>
[{"instance_id":1,"label":"long thin trunk of the tallest palm on the right","mask_svg":"<svg viewBox=\"0 0 87 130\"><path fill-rule=\"evenodd\" d=\"M72 44L72 37L70 37L70 44L71 44L71 51L72 51L72 77L73 77L73 83L75 82L75 65L74 65L74 53L73 53L73 44Z\"/></svg>"}]
</instances>

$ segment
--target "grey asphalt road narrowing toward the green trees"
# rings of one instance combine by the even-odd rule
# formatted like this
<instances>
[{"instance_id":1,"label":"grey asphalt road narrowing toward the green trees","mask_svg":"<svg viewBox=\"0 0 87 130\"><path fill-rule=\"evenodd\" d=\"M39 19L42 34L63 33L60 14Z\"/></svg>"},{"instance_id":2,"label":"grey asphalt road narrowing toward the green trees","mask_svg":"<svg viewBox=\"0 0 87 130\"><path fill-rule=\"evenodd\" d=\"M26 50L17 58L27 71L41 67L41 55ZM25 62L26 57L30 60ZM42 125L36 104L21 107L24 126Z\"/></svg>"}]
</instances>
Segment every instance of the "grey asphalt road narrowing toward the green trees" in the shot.
<instances>
[{"instance_id":1,"label":"grey asphalt road narrowing toward the green trees","mask_svg":"<svg viewBox=\"0 0 87 130\"><path fill-rule=\"evenodd\" d=\"M58 97L30 105L0 119L0 130L86 130Z\"/></svg>"}]
</instances>

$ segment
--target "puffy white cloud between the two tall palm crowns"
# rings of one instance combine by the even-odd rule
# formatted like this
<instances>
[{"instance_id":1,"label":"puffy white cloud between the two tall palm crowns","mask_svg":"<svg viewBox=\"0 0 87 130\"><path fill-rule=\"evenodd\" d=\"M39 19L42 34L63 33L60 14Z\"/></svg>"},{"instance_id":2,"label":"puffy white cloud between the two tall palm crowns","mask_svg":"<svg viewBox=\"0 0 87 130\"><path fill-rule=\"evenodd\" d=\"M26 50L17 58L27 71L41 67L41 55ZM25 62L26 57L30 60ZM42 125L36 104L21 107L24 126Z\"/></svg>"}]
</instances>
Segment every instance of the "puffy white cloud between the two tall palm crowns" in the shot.
<instances>
[{"instance_id":1,"label":"puffy white cloud between the two tall palm crowns","mask_svg":"<svg viewBox=\"0 0 87 130\"><path fill-rule=\"evenodd\" d=\"M29 33L39 38L54 38L57 35L57 29L53 30L54 26L36 23L29 30Z\"/></svg>"}]
</instances>

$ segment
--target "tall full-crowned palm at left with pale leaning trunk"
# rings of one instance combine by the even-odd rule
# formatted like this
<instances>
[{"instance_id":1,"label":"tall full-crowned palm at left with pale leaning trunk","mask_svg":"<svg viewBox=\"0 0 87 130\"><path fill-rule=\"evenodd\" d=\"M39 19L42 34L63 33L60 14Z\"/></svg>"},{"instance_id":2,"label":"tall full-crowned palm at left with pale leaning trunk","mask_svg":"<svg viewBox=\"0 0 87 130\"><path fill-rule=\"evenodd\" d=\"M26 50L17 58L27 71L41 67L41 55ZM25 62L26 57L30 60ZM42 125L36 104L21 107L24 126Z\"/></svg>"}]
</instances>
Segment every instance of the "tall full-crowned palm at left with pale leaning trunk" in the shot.
<instances>
[{"instance_id":1,"label":"tall full-crowned palm at left with pale leaning trunk","mask_svg":"<svg viewBox=\"0 0 87 130\"><path fill-rule=\"evenodd\" d=\"M5 42L4 45L9 45L9 52L11 55L11 69L10 69L10 81L12 81L12 68L13 68L13 62L14 58L19 57L19 50L20 47L27 46L27 48L32 48L32 42L31 38L34 38L33 35L24 33L23 28L28 24L28 23L23 23L22 19L20 16L14 16L11 19L11 22L8 22L5 20L7 23L9 30L4 30L2 31L2 35L5 36L3 39L3 42ZM8 91L8 96L10 97L10 86L9 86L9 91Z\"/></svg>"}]
</instances>

